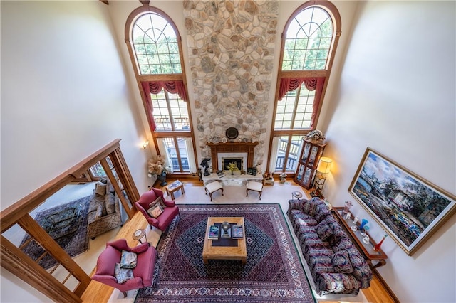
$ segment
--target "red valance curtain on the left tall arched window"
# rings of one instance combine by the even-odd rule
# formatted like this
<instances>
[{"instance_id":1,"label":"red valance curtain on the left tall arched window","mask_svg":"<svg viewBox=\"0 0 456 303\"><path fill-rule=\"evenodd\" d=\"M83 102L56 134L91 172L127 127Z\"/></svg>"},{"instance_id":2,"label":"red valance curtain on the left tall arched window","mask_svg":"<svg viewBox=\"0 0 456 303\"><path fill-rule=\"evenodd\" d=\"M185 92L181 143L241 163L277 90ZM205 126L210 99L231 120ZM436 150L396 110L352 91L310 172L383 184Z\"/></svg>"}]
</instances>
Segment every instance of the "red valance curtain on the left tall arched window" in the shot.
<instances>
[{"instance_id":1,"label":"red valance curtain on the left tall arched window","mask_svg":"<svg viewBox=\"0 0 456 303\"><path fill-rule=\"evenodd\" d=\"M183 81L145 81L141 82L142 90L144 90L144 95L147 99L147 116L149 117L149 127L152 129L152 132L155 131L157 125L155 124L154 116L152 115L152 98L150 94L157 94L163 89L172 94L177 94L185 102L188 101L187 90L185 90L185 85Z\"/></svg>"}]
</instances>

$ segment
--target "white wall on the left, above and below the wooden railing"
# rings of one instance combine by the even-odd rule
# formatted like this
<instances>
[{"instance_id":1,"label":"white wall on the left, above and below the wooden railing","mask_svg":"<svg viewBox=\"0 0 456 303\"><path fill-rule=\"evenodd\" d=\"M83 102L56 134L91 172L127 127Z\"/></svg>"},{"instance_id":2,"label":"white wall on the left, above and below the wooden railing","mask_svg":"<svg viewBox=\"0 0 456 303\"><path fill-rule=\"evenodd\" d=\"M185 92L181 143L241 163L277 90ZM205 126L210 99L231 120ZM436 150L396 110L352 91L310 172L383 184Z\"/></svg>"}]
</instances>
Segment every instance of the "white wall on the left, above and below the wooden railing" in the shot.
<instances>
[{"instance_id":1,"label":"white wall on the left, above and below the wooden railing","mask_svg":"<svg viewBox=\"0 0 456 303\"><path fill-rule=\"evenodd\" d=\"M1 209L116 138L140 193L147 150L100 1L1 1ZM1 302L48 302L6 270Z\"/></svg>"}]
</instances>

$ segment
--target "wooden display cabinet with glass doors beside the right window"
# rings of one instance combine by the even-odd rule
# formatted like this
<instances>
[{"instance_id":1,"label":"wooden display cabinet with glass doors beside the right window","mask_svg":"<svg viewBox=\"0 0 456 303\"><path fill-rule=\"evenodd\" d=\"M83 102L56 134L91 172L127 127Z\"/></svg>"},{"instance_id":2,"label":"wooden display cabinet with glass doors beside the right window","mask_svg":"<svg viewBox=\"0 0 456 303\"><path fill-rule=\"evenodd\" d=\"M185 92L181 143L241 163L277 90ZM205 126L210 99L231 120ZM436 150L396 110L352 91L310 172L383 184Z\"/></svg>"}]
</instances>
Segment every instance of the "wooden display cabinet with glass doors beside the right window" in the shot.
<instances>
[{"instance_id":1,"label":"wooden display cabinet with glass doors beside the right window","mask_svg":"<svg viewBox=\"0 0 456 303\"><path fill-rule=\"evenodd\" d=\"M304 145L301 149L298 168L294 175L294 181L306 189L311 189L314 184L316 168L318 161L325 150L325 142L315 142L304 139Z\"/></svg>"}]
</instances>

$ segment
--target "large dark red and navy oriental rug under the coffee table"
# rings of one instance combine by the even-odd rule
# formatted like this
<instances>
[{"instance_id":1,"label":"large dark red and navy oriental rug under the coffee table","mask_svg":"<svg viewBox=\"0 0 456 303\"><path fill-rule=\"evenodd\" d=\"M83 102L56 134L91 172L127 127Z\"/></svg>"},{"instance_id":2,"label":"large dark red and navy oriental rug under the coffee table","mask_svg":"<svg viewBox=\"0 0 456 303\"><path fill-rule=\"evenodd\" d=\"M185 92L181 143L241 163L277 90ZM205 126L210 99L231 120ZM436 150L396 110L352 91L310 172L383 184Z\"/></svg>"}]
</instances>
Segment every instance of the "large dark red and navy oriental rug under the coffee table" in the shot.
<instances>
[{"instance_id":1,"label":"large dark red and navy oriental rug under the coffee table","mask_svg":"<svg viewBox=\"0 0 456 303\"><path fill-rule=\"evenodd\" d=\"M153 284L142 302L316 302L279 204L179 204L162 234ZM208 217L244 217L247 264L209 260L202 250Z\"/></svg>"}]
</instances>

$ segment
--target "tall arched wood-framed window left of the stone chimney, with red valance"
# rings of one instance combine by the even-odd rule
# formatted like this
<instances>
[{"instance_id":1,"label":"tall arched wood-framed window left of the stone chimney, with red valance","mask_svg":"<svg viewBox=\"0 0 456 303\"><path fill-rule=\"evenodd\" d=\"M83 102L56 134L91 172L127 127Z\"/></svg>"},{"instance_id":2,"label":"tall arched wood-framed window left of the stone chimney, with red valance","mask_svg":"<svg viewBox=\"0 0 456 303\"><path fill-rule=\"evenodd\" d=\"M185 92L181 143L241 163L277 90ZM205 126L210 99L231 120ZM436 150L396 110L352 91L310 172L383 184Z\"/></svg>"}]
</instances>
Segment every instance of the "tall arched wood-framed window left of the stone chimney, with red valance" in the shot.
<instances>
[{"instance_id":1,"label":"tall arched wood-framed window left of the stone chimney, with red valance","mask_svg":"<svg viewBox=\"0 0 456 303\"><path fill-rule=\"evenodd\" d=\"M177 27L163 11L144 4L128 17L125 41L157 154L165 156L174 173L195 172L192 117Z\"/></svg>"}]
</instances>

